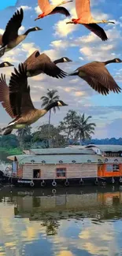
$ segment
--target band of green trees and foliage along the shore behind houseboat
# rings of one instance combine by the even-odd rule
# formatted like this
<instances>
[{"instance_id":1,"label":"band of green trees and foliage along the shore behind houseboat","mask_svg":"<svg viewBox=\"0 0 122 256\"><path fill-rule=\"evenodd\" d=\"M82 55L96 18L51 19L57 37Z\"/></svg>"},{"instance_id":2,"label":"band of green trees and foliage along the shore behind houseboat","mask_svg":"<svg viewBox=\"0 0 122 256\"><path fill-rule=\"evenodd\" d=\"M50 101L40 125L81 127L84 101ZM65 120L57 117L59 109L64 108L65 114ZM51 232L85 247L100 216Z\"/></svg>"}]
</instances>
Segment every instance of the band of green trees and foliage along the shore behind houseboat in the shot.
<instances>
[{"instance_id":1,"label":"band of green trees and foliage along the shore behind houseboat","mask_svg":"<svg viewBox=\"0 0 122 256\"><path fill-rule=\"evenodd\" d=\"M31 126L20 129L16 134L0 135L0 157L5 158L7 155L22 154L23 150L38 147L64 147L68 144L118 144L122 145L120 139L92 139L95 124L91 122L92 117L85 117L74 110L69 110L65 118L57 127L53 124L43 124L32 132ZM50 137L49 137L50 125ZM50 141L50 143L49 143Z\"/></svg>"}]
</instances>

